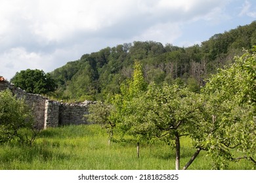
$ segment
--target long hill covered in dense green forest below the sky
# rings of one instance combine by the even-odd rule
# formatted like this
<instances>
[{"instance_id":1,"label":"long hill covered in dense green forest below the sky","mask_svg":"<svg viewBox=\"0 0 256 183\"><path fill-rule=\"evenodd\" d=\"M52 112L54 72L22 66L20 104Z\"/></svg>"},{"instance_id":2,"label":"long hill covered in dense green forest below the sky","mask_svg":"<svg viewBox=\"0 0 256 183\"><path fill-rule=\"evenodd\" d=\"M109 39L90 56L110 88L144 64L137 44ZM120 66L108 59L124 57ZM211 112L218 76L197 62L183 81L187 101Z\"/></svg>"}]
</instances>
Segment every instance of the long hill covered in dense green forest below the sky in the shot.
<instances>
[{"instance_id":1,"label":"long hill covered in dense green forest below the sky","mask_svg":"<svg viewBox=\"0 0 256 183\"><path fill-rule=\"evenodd\" d=\"M100 100L119 92L119 85L130 78L135 59L141 61L147 82L187 85L198 92L205 78L217 68L232 62L243 49L256 44L256 22L213 35L201 45L180 48L160 42L135 41L85 54L55 69L58 82L56 99Z\"/></svg>"}]
</instances>

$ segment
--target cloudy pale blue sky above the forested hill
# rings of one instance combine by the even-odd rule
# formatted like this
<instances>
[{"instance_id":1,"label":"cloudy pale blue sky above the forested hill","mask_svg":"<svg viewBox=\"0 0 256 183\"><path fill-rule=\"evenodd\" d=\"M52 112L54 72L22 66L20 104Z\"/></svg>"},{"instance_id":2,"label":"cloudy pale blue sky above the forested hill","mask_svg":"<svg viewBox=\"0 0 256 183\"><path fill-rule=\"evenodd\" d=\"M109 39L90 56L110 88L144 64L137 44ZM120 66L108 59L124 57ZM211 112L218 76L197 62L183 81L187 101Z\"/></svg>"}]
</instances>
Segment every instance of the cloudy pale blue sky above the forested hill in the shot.
<instances>
[{"instance_id":1,"label":"cloudy pale blue sky above the forested hill","mask_svg":"<svg viewBox=\"0 0 256 183\"><path fill-rule=\"evenodd\" d=\"M133 41L188 47L254 20L255 0L0 0L0 76Z\"/></svg>"}]
</instances>

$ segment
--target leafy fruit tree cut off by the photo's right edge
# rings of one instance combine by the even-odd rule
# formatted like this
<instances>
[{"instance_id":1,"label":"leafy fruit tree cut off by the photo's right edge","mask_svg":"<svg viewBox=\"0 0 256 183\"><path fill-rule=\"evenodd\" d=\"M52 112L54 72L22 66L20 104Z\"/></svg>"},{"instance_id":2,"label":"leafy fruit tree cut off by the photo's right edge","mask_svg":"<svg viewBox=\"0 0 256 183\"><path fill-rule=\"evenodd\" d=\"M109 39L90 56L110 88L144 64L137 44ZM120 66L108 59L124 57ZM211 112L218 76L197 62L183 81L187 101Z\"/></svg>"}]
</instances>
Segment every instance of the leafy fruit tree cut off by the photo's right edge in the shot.
<instances>
[{"instance_id":1,"label":"leafy fruit tree cut off by the photo's right edge","mask_svg":"<svg viewBox=\"0 0 256 183\"><path fill-rule=\"evenodd\" d=\"M255 54L256 47L236 57L232 65L209 79L203 91L208 97L208 116L212 116L212 120L205 120L212 130L204 146L217 169L225 168L228 161L240 159L256 165Z\"/></svg>"}]
</instances>

